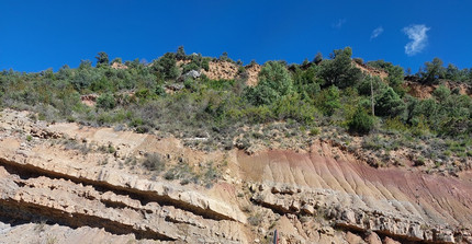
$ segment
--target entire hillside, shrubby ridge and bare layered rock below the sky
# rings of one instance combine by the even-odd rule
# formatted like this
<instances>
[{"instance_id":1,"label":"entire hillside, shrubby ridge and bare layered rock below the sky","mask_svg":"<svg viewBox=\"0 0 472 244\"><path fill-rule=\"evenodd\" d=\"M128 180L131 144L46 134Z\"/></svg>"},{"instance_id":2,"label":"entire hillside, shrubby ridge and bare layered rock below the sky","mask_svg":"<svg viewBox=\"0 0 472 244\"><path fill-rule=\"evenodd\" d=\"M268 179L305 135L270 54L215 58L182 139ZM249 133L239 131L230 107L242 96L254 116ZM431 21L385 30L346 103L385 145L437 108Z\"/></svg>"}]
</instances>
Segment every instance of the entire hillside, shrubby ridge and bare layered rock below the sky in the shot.
<instances>
[{"instance_id":1,"label":"entire hillside, shrubby ridge and bare layered rock below the sky","mask_svg":"<svg viewBox=\"0 0 472 244\"><path fill-rule=\"evenodd\" d=\"M1 72L0 243L472 243L472 71L351 54Z\"/></svg>"}]
</instances>

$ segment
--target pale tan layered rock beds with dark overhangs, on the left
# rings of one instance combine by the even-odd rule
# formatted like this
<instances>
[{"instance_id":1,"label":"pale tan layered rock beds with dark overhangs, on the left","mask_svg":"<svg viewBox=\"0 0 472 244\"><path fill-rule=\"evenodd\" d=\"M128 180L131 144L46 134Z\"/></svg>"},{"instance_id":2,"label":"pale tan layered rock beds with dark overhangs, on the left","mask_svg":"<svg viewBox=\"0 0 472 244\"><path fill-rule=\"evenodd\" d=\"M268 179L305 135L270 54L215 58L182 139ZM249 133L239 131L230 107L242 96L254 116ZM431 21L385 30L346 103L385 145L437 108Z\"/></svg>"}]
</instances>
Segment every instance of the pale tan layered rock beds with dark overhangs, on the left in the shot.
<instances>
[{"instance_id":1,"label":"pale tan layered rock beds with dark overhangs, on the left","mask_svg":"<svg viewBox=\"0 0 472 244\"><path fill-rule=\"evenodd\" d=\"M42 221L43 225L80 229L81 234L74 239L60 232L45 236L60 243L81 243L89 232L94 232L88 228L103 228L117 243L135 237L246 242L246 218L229 200L211 197L204 188L199 191L167 181L150 181L146 175L127 173L130 169L120 169L121 158L139 153L151 136L81 129L74 124L48 127L29 121L26 113L12 111L2 115L0 217L10 230L0 235L0 243L14 243L20 237L14 230L27 229L23 223ZM32 137L25 137L23 131ZM93 150L81 153L58 147L60 139L66 143L89 140L97 147L115 143L122 148L113 154ZM34 239L35 234L24 233L23 240ZM123 240L120 235L128 237Z\"/></svg>"}]
</instances>

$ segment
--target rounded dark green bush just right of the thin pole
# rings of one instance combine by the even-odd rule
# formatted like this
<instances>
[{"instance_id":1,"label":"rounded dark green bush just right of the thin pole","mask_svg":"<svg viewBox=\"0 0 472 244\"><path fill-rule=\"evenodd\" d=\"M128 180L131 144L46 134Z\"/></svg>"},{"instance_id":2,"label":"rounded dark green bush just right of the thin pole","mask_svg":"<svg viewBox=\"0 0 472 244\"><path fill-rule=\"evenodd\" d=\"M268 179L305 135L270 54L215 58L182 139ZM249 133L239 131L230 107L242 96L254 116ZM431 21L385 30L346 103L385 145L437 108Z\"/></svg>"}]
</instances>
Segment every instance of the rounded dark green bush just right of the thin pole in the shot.
<instances>
[{"instance_id":1,"label":"rounded dark green bush just right of the thin pole","mask_svg":"<svg viewBox=\"0 0 472 244\"><path fill-rule=\"evenodd\" d=\"M396 117L402 115L405 103L392 88L386 88L375 97L375 115Z\"/></svg>"}]
</instances>

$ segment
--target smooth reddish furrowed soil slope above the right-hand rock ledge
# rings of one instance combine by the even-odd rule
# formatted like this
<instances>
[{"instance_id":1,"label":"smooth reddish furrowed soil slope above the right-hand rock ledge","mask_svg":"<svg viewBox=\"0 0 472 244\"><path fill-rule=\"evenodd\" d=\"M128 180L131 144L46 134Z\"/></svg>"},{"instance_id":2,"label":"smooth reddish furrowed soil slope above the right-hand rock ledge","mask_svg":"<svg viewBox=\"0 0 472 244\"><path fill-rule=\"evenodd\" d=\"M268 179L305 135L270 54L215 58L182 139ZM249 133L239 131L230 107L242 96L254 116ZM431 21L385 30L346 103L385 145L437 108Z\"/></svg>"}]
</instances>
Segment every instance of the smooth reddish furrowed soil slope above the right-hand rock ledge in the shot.
<instances>
[{"instance_id":1,"label":"smooth reddish furrowed soil slope above the right-hand rock ledge","mask_svg":"<svg viewBox=\"0 0 472 244\"><path fill-rule=\"evenodd\" d=\"M377 209L400 211L436 223L472 226L471 174L453 178L404 169L374 169L340 151L331 151L327 144L318 144L312 153L239 152L238 162L241 177L249 181L333 189L361 196L367 206ZM385 204L389 201L397 205Z\"/></svg>"}]
</instances>

